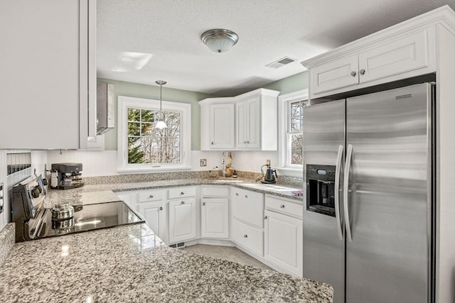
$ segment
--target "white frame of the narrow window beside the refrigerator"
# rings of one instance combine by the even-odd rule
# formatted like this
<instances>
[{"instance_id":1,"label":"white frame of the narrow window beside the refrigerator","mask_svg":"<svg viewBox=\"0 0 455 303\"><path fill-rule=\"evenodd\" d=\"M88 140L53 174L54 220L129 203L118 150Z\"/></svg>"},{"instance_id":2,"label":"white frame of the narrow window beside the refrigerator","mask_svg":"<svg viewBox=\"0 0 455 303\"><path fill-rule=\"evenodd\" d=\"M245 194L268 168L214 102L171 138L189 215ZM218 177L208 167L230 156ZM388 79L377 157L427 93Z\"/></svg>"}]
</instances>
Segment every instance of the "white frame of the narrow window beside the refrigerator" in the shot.
<instances>
[{"instance_id":1,"label":"white frame of the narrow window beside the refrigerator","mask_svg":"<svg viewBox=\"0 0 455 303\"><path fill-rule=\"evenodd\" d=\"M288 134L290 133L289 128L291 124L290 117L290 104L295 101L305 101L309 99L308 89L301 89L296 92L291 92L289 94L282 94L278 97L279 107L278 107L278 116L279 116L279 167L278 171L282 175L293 176L293 177L303 177L304 167L301 165L289 165L289 141Z\"/></svg>"}]
</instances>

